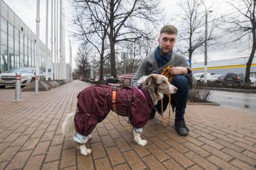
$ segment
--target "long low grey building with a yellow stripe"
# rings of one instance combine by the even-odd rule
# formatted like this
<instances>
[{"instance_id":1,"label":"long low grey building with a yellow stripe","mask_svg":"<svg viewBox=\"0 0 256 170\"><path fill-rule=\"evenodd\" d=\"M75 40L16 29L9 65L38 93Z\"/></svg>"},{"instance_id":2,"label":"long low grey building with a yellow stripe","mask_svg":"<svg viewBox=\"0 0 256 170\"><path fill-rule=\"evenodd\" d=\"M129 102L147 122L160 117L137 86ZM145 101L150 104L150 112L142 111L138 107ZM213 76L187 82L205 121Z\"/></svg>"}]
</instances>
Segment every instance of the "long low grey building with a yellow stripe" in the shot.
<instances>
[{"instance_id":1,"label":"long low grey building with a yellow stripe","mask_svg":"<svg viewBox=\"0 0 256 170\"><path fill-rule=\"evenodd\" d=\"M216 61L208 61L207 71L208 73L223 74L226 73L245 73L246 63L248 62L249 56L242 56L231 59L220 59ZM192 64L193 73L204 72L204 62L194 62ZM256 76L256 58L252 60L250 77Z\"/></svg>"}]
</instances>

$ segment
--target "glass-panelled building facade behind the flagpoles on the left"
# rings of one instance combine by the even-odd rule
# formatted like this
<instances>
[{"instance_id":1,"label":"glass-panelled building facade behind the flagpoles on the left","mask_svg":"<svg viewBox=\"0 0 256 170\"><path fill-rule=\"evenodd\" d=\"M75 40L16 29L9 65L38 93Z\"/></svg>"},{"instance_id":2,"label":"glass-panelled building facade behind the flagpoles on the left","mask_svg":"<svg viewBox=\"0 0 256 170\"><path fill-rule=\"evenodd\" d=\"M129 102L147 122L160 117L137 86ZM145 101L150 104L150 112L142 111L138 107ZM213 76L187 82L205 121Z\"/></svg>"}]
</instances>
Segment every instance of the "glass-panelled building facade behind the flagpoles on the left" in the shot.
<instances>
[{"instance_id":1,"label":"glass-panelled building facade behind the flagpoles on the left","mask_svg":"<svg viewBox=\"0 0 256 170\"><path fill-rule=\"evenodd\" d=\"M0 0L0 9L0 73L15 67L35 67L36 34L2 0ZM45 52L46 46L40 41L39 69L43 71L45 71ZM50 62L51 59L48 68L51 68Z\"/></svg>"}]
</instances>

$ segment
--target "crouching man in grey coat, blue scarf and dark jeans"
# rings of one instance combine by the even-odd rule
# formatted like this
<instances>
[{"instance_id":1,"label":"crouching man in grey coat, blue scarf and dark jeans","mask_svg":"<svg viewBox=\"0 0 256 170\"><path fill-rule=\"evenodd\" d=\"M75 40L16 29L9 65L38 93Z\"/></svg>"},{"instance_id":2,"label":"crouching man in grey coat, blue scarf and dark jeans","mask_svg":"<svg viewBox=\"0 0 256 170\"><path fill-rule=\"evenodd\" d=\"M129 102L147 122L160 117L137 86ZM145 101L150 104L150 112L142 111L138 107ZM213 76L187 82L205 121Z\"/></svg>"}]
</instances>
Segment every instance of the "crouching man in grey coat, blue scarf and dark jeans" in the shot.
<instances>
[{"instance_id":1,"label":"crouching man in grey coat, blue scarf and dark jeans","mask_svg":"<svg viewBox=\"0 0 256 170\"><path fill-rule=\"evenodd\" d=\"M187 136L189 129L184 120L187 97L189 89L195 87L196 80L193 77L192 70L187 64L186 58L173 52L173 46L176 42L178 31L173 25L166 25L160 31L158 38L159 46L143 59L138 68L131 85L136 86L137 80L144 75L151 73L160 74L163 69L169 65L173 65L169 69L169 73L173 76L172 85L178 88L177 93L172 94L172 108L175 109L175 129L178 134ZM166 110L169 102L167 95L163 97L163 111ZM161 114L161 101L155 106L158 114ZM155 117L155 110L151 113L151 118Z\"/></svg>"}]
</instances>

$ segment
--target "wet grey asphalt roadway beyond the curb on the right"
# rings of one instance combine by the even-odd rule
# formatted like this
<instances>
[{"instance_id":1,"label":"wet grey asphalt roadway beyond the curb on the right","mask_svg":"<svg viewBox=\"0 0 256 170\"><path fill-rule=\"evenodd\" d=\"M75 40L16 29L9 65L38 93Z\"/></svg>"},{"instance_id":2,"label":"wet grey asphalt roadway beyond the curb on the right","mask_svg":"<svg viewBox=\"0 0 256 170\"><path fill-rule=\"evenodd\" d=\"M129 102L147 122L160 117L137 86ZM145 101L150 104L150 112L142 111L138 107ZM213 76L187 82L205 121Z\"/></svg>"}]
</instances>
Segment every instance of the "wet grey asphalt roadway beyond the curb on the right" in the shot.
<instances>
[{"instance_id":1,"label":"wet grey asphalt roadway beyond the curb on the right","mask_svg":"<svg viewBox=\"0 0 256 170\"><path fill-rule=\"evenodd\" d=\"M246 109L256 113L255 93L234 93L228 91L213 91L210 102L219 103L234 109Z\"/></svg>"}]
</instances>

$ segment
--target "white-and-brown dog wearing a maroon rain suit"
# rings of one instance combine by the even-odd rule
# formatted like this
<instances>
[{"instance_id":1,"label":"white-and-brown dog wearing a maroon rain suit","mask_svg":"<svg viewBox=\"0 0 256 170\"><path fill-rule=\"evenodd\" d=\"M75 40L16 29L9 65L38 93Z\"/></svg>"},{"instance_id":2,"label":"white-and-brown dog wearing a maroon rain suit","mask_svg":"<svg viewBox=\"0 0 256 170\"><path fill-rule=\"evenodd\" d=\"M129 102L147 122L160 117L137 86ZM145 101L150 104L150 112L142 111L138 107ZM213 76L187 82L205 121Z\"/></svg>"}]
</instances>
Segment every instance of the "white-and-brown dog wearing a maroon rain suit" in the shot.
<instances>
[{"instance_id":1,"label":"white-and-brown dog wearing a maroon rain suit","mask_svg":"<svg viewBox=\"0 0 256 170\"><path fill-rule=\"evenodd\" d=\"M85 88L78 94L76 111L67 114L61 132L66 136L73 135L81 154L86 156L92 153L92 150L87 149L85 145L92 138L90 133L95 129L96 124L104 120L112 110L129 118L133 126L134 141L145 146L147 141L142 140L140 135L154 105L163 98L163 94L173 94L178 89L168 82L167 77L160 74L143 76L138 83L139 87L115 89L105 85L94 85ZM116 96L114 103L113 96ZM78 136L82 136L83 139Z\"/></svg>"}]
</instances>

